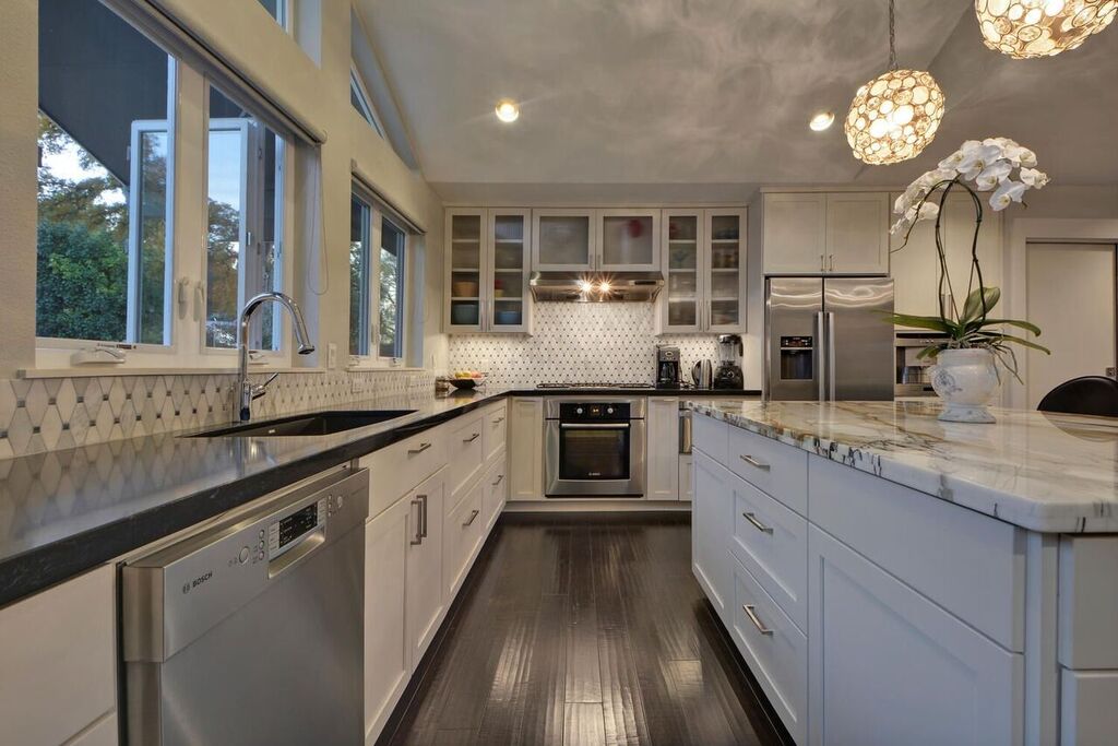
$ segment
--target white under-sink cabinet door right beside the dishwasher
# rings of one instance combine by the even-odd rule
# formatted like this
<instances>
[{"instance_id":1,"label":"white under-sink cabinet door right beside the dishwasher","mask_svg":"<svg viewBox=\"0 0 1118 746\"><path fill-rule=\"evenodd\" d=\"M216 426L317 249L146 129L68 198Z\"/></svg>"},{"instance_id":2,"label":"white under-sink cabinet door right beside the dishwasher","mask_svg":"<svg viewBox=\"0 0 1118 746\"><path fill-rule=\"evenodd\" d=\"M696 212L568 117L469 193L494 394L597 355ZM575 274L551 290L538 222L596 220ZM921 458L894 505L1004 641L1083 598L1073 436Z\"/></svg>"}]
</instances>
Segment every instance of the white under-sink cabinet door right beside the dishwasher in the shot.
<instances>
[{"instance_id":1,"label":"white under-sink cabinet door right beside the dishwasher","mask_svg":"<svg viewBox=\"0 0 1118 746\"><path fill-rule=\"evenodd\" d=\"M364 733L380 734L411 676L406 626L408 542L416 532L414 495L364 527Z\"/></svg>"}]
</instances>

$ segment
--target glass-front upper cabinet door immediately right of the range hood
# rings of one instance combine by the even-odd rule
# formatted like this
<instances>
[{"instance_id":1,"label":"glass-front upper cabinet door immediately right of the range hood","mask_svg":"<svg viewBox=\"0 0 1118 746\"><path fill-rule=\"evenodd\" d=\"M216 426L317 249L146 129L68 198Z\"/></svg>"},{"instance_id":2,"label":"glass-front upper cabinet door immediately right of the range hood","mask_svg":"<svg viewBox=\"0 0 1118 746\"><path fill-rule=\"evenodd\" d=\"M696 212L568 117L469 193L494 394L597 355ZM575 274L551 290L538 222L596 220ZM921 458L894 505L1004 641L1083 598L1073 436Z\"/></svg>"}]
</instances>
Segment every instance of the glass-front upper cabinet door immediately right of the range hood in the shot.
<instances>
[{"instance_id":1,"label":"glass-front upper cabinet door immediately right of the range hood","mask_svg":"<svg viewBox=\"0 0 1118 746\"><path fill-rule=\"evenodd\" d=\"M666 287L661 292L661 330L702 331L702 267L705 220L702 210L664 210L661 262Z\"/></svg>"}]
</instances>

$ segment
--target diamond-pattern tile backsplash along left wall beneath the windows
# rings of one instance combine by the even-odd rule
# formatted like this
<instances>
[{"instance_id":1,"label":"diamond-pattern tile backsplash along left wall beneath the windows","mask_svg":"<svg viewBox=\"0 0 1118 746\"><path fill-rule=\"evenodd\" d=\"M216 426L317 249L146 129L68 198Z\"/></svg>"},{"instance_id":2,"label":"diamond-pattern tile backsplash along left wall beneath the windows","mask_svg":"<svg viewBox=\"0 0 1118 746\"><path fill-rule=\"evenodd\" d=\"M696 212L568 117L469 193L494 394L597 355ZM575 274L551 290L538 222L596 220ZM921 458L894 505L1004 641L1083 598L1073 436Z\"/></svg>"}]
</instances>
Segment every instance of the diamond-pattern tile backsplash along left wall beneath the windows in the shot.
<instances>
[{"instance_id":1,"label":"diamond-pattern tile backsplash along left wall beneath the windows","mask_svg":"<svg viewBox=\"0 0 1118 746\"><path fill-rule=\"evenodd\" d=\"M228 423L236 380L228 374L0 379L0 459ZM435 376L426 371L285 372L253 403L253 417L424 394L434 386Z\"/></svg>"}]
</instances>

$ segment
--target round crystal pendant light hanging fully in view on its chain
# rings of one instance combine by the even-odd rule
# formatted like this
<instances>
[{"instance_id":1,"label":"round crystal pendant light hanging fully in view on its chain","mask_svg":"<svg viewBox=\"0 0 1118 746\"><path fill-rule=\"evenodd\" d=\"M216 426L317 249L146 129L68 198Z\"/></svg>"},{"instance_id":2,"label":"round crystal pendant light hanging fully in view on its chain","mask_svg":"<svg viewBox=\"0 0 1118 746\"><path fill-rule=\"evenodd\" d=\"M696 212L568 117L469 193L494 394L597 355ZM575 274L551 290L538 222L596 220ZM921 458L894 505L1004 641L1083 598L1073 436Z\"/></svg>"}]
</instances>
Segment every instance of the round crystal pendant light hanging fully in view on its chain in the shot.
<instances>
[{"instance_id":1,"label":"round crystal pendant light hanging fully in view on its chain","mask_svg":"<svg viewBox=\"0 0 1118 746\"><path fill-rule=\"evenodd\" d=\"M846 142L871 166L916 158L944 119L944 92L931 74L897 67L894 15L889 0L889 70L858 89L846 115Z\"/></svg>"}]
</instances>

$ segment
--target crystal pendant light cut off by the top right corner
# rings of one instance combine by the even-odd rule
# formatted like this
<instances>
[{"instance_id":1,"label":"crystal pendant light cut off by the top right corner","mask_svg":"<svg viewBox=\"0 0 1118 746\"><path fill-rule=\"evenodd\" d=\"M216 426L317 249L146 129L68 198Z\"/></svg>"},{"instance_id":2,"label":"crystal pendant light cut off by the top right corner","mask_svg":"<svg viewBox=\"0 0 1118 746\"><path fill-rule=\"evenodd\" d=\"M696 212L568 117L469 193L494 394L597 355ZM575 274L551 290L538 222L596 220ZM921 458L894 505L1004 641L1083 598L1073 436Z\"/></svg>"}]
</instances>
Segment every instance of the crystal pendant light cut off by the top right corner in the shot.
<instances>
[{"instance_id":1,"label":"crystal pendant light cut off by the top right corner","mask_svg":"<svg viewBox=\"0 0 1118 746\"><path fill-rule=\"evenodd\" d=\"M1074 49L1118 15L1118 0L975 0L982 40L1016 59Z\"/></svg>"}]
</instances>

